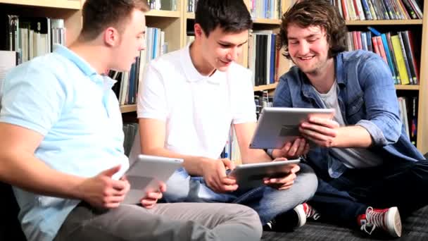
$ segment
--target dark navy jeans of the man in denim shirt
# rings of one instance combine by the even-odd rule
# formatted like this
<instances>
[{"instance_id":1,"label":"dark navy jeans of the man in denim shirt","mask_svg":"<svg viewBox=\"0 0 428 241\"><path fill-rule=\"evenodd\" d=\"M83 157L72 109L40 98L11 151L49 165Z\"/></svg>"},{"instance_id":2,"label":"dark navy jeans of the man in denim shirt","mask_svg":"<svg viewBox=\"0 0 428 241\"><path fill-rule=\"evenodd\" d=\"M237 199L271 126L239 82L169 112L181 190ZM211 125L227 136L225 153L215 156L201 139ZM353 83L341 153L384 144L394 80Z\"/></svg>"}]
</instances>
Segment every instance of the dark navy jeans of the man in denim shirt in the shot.
<instances>
[{"instance_id":1,"label":"dark navy jeans of the man in denim shirt","mask_svg":"<svg viewBox=\"0 0 428 241\"><path fill-rule=\"evenodd\" d=\"M330 178L327 167L311 166L319 183L308 203L324 221L355 226L368 206L397 206L405 217L428 204L428 161L387 160L374 168L347 169L339 178Z\"/></svg>"}]
</instances>

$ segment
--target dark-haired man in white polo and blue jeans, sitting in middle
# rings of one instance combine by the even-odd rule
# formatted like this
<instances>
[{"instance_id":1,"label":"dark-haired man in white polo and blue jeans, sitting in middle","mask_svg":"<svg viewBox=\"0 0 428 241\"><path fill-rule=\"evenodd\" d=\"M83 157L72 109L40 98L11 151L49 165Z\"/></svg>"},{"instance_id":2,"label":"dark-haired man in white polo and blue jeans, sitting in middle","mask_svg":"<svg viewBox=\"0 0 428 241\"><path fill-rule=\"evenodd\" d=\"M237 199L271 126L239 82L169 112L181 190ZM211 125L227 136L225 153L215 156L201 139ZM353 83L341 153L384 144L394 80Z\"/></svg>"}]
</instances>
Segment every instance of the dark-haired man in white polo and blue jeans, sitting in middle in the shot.
<instances>
[{"instance_id":1,"label":"dark-haired man in white polo and blue jeans, sitting in middle","mask_svg":"<svg viewBox=\"0 0 428 241\"><path fill-rule=\"evenodd\" d=\"M263 225L284 220L279 217L298 206L301 215L294 225L303 225L306 214L299 204L317 187L311 168L296 165L287 176L265 180L263 187L241 190L226 175L234 164L219 158L232 125L243 163L272 161L262 149L248 148L256 128L251 72L234 62L251 26L243 1L199 0L195 41L146 67L137 111L141 150L184 159L184 168L168 180L166 202L245 204L258 212ZM298 156L308 151L308 144L299 139L283 151L287 157ZM275 230L283 228L291 227Z\"/></svg>"}]
</instances>

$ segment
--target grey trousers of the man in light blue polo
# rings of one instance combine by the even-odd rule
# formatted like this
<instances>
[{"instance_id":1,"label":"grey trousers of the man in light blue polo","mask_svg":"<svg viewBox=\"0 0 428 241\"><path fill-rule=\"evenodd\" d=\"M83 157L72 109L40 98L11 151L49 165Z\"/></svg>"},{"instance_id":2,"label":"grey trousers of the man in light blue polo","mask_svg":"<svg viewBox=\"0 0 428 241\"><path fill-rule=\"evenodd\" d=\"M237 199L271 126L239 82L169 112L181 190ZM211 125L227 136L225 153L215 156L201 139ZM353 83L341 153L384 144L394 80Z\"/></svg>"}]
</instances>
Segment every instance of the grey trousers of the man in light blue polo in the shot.
<instances>
[{"instance_id":1,"label":"grey trousers of the man in light blue polo","mask_svg":"<svg viewBox=\"0 0 428 241\"><path fill-rule=\"evenodd\" d=\"M153 209L121 205L98 210L81 202L54 241L62 240L260 240L253 209L239 204L157 204Z\"/></svg>"}]
</instances>

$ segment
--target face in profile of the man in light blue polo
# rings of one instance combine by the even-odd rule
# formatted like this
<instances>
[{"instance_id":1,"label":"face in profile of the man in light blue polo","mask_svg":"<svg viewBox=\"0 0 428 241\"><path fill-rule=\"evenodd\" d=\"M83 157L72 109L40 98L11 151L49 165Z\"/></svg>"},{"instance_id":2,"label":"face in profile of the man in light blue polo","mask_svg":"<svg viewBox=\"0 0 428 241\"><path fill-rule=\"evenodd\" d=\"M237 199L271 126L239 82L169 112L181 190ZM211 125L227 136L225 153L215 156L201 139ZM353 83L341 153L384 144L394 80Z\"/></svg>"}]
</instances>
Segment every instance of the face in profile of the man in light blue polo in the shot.
<instances>
[{"instance_id":1,"label":"face in profile of the man in light blue polo","mask_svg":"<svg viewBox=\"0 0 428 241\"><path fill-rule=\"evenodd\" d=\"M115 70L129 71L135 58L139 56L139 51L144 50L144 13L135 9L124 25L122 33L119 34L119 44L113 51L113 61Z\"/></svg>"}]
</instances>

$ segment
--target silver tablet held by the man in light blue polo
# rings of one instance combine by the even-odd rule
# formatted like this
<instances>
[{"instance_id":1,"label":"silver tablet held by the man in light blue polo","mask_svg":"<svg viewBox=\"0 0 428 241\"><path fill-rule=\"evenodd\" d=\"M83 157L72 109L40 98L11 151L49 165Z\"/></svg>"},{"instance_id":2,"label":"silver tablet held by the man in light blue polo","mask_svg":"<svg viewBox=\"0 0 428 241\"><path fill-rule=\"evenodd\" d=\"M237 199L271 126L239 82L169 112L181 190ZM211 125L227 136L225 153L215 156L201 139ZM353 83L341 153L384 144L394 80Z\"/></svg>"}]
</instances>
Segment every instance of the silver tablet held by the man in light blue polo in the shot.
<instances>
[{"instance_id":1,"label":"silver tablet held by the man in light blue polo","mask_svg":"<svg viewBox=\"0 0 428 241\"><path fill-rule=\"evenodd\" d=\"M138 155L130 160L130 168L125 177L130 182L131 189L126 194L122 204L139 204L148 191L157 191L160 182L166 182L178 168L183 159L163 156Z\"/></svg>"}]
</instances>

